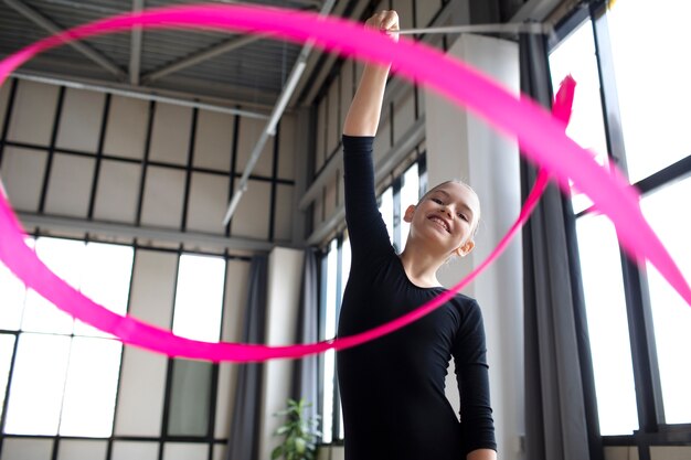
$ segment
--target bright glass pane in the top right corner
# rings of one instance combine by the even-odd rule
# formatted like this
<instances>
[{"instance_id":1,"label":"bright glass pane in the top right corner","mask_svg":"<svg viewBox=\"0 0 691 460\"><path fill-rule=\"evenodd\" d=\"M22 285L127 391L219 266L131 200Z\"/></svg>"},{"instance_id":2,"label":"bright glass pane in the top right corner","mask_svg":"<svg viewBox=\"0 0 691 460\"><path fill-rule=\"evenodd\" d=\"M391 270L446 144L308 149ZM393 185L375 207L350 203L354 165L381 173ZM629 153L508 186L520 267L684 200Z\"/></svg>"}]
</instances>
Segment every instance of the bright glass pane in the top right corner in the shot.
<instances>
[{"instance_id":1,"label":"bright glass pane in the top right corner","mask_svg":"<svg viewBox=\"0 0 691 460\"><path fill-rule=\"evenodd\" d=\"M607 13L631 182L687 157L691 145L691 61L683 57L691 2L651 7L620 1Z\"/></svg>"}]
</instances>

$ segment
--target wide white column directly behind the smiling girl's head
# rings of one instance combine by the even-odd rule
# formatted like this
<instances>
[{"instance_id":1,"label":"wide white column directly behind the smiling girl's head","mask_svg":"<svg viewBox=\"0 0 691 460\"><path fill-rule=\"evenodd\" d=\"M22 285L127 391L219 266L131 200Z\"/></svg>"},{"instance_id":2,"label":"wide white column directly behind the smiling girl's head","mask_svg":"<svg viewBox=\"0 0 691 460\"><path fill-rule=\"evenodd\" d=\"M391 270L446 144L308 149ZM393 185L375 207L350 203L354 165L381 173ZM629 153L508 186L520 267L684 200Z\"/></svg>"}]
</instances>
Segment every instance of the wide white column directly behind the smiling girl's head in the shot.
<instances>
[{"instance_id":1,"label":"wide white column directly behind the smiling girl's head","mask_svg":"<svg viewBox=\"0 0 691 460\"><path fill-rule=\"evenodd\" d=\"M461 35L449 49L461 58L519 89L519 55L515 43L479 35ZM491 253L520 210L519 151L514 141L500 137L466 110L428 93L426 143L429 188L450 179L469 183L481 202L476 248L440 271L445 286L453 286ZM485 318L490 388L500 458L522 459L523 351L521 243L506 253L465 289L475 297ZM449 400L458 407L455 375L449 371Z\"/></svg>"}]
</instances>

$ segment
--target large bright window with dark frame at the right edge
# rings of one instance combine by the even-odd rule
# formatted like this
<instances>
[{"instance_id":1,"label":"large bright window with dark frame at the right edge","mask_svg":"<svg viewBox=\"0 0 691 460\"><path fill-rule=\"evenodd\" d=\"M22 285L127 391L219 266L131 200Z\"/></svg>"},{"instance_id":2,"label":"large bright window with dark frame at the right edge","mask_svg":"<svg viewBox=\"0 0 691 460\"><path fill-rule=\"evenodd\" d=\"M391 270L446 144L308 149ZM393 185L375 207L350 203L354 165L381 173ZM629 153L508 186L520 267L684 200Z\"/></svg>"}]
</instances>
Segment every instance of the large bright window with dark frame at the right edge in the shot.
<instances>
[{"instance_id":1,"label":"large bright window with dark frame at the right edge","mask_svg":"<svg viewBox=\"0 0 691 460\"><path fill-rule=\"evenodd\" d=\"M550 55L554 88L567 74L577 82L567 135L603 167L623 169L691 279L691 226L679 212L691 194L691 137L681 111L691 103L691 66L679 57L687 42L680 21L691 4L617 2L607 10L605 3L566 21L572 29L560 31L567 38ZM572 203L600 434L625 439L645 427L663 432L666 425L690 424L691 372L682 353L691 346L691 309L653 268L636 269L621 256L612 223L587 197L572 191ZM656 443L666 441L661 436Z\"/></svg>"}]
</instances>

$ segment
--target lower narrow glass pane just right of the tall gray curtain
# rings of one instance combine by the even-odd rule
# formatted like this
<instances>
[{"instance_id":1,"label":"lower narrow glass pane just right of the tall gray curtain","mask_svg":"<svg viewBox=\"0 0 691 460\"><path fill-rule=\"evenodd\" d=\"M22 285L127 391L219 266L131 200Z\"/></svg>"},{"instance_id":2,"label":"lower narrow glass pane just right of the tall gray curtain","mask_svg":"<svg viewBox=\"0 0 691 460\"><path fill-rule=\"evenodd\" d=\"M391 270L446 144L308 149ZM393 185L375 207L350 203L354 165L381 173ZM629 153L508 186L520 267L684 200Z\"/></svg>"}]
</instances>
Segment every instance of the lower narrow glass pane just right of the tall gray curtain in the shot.
<instances>
[{"instance_id":1,"label":"lower narrow glass pane just right of the tall gray curtain","mask_svg":"<svg viewBox=\"0 0 691 460\"><path fill-rule=\"evenodd\" d=\"M616 233L592 214L576 221L576 232L600 434L630 435L638 414Z\"/></svg>"}]
</instances>

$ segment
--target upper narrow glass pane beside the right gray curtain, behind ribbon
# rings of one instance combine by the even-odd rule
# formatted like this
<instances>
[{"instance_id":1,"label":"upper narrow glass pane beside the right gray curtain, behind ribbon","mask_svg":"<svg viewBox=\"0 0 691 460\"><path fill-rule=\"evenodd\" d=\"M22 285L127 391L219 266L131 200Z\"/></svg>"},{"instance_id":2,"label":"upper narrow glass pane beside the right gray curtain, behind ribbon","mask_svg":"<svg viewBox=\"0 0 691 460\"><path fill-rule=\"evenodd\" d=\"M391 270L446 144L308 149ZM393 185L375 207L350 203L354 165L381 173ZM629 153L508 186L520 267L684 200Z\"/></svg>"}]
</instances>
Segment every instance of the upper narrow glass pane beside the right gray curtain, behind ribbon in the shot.
<instances>
[{"instance_id":1,"label":"upper narrow glass pane beside the right gray curtain, behind ribbon","mask_svg":"<svg viewBox=\"0 0 691 460\"><path fill-rule=\"evenodd\" d=\"M595 161L607 164L607 140L603 119L599 76L591 21L583 23L550 54L552 87L556 94L560 83L568 75L576 81L571 121L566 135L584 149ZM574 212L589 207L593 202L571 188Z\"/></svg>"}]
</instances>

